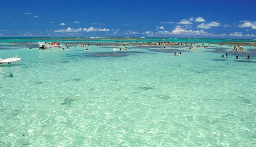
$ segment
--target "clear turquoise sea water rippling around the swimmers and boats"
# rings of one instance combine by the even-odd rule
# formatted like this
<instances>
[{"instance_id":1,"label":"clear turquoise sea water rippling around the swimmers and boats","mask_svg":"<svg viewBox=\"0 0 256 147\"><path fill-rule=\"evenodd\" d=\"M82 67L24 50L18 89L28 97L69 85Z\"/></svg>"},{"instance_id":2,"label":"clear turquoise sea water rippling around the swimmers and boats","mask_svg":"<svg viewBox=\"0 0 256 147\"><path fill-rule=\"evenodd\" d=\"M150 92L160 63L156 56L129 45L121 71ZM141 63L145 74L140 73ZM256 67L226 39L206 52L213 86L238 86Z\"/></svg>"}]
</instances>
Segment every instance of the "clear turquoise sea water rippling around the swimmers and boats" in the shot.
<instances>
[{"instance_id":1,"label":"clear turquoise sea water rippling around the swimmers and boats","mask_svg":"<svg viewBox=\"0 0 256 147\"><path fill-rule=\"evenodd\" d=\"M0 42L1 58L22 58L0 66L0 146L256 146L252 47L206 39L208 48L164 49L137 39L113 52L117 40L96 39L38 50L30 41L41 40Z\"/></svg>"}]
</instances>

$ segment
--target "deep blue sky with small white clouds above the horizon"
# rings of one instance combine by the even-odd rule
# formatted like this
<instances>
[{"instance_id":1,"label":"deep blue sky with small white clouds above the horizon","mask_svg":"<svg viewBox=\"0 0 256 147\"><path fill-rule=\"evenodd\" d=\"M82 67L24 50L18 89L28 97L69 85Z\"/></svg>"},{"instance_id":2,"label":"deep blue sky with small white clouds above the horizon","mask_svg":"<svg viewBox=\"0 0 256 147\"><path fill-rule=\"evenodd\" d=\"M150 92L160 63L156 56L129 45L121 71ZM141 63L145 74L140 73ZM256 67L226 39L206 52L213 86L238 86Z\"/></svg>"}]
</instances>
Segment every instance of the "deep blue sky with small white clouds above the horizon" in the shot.
<instances>
[{"instance_id":1,"label":"deep blue sky with small white clouds above the horizon","mask_svg":"<svg viewBox=\"0 0 256 147\"><path fill-rule=\"evenodd\" d=\"M0 37L256 39L253 0L9 0Z\"/></svg>"}]
</instances>

